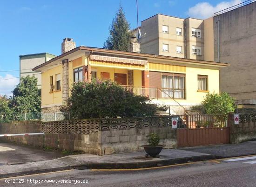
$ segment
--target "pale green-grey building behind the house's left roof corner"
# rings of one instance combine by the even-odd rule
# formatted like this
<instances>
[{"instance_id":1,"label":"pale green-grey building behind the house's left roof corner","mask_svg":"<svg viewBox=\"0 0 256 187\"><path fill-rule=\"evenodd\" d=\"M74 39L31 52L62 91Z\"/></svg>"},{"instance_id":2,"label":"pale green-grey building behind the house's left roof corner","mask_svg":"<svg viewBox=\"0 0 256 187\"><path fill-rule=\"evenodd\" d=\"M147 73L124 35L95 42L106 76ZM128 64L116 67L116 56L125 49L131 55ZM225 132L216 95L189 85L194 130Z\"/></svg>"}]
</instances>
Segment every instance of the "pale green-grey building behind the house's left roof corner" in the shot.
<instances>
[{"instance_id":1,"label":"pale green-grey building behind the house's left roof corner","mask_svg":"<svg viewBox=\"0 0 256 187\"><path fill-rule=\"evenodd\" d=\"M41 74L32 69L48 60L56 57L49 53L36 53L20 55L20 78L26 76L35 76L37 78L37 87L41 88Z\"/></svg>"}]
</instances>

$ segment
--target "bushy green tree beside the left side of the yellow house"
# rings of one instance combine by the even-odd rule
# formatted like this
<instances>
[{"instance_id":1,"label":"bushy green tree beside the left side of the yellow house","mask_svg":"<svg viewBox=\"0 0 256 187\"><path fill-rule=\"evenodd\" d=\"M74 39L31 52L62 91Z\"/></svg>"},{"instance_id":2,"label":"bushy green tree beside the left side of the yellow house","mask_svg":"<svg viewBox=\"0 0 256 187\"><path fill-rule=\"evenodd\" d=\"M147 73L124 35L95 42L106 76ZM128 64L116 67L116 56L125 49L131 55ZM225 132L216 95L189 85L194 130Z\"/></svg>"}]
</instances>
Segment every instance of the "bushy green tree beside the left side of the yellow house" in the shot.
<instances>
[{"instance_id":1,"label":"bushy green tree beside the left side of the yellow house","mask_svg":"<svg viewBox=\"0 0 256 187\"><path fill-rule=\"evenodd\" d=\"M37 113L41 111L41 91L37 87L37 78L22 77L20 84L12 91L9 107L14 114Z\"/></svg>"}]
</instances>

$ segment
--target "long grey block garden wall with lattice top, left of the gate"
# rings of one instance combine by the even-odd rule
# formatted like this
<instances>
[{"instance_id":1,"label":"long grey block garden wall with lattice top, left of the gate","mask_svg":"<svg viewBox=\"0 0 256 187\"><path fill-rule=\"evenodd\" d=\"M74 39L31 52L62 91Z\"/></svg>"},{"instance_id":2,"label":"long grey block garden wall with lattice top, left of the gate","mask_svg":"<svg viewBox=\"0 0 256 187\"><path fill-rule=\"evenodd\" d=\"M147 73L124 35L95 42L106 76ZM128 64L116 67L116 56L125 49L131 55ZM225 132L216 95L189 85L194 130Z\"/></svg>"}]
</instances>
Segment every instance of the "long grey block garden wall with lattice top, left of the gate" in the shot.
<instances>
[{"instance_id":1,"label":"long grey block garden wall with lattice top, left of the gate","mask_svg":"<svg viewBox=\"0 0 256 187\"><path fill-rule=\"evenodd\" d=\"M45 146L106 155L142 150L148 134L156 133L165 148L177 147L177 129L168 117L88 119L66 121L13 121L0 124L0 134L45 133ZM2 137L0 141L43 146L43 135Z\"/></svg>"}]
</instances>

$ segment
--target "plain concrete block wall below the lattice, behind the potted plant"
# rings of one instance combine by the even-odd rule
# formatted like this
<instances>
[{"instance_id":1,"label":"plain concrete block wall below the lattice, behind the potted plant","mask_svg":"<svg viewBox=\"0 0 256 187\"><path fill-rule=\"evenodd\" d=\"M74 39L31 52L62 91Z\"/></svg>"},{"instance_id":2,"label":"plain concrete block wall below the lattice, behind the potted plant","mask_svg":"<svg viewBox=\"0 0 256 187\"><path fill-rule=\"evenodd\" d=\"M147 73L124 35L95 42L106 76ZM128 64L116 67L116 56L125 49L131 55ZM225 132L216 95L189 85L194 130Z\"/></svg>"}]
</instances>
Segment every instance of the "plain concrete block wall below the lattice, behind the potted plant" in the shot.
<instances>
[{"instance_id":1,"label":"plain concrete block wall below the lattice, behind the potted plant","mask_svg":"<svg viewBox=\"0 0 256 187\"><path fill-rule=\"evenodd\" d=\"M177 147L177 129L171 127L144 127L140 129L119 129L101 131L99 144L101 155L141 151L148 144L148 134L160 136L160 144L165 148Z\"/></svg>"}]
</instances>

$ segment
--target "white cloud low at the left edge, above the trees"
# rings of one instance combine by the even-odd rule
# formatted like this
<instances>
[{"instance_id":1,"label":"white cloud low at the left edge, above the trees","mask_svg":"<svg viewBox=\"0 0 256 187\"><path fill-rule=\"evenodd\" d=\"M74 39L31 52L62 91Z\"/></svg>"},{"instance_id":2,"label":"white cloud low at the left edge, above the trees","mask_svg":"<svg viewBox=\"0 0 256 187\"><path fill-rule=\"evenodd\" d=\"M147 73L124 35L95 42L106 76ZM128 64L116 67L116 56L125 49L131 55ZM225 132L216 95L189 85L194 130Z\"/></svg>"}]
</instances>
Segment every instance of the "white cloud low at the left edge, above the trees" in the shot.
<instances>
[{"instance_id":1,"label":"white cloud low at the left edge, above the trees","mask_svg":"<svg viewBox=\"0 0 256 187\"><path fill-rule=\"evenodd\" d=\"M3 80L7 79L7 80ZM5 76L0 75L0 95L12 95L14 87L19 84L20 79L14 78L11 74L6 74Z\"/></svg>"}]
</instances>

